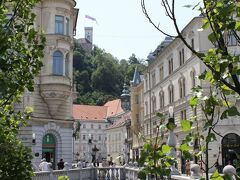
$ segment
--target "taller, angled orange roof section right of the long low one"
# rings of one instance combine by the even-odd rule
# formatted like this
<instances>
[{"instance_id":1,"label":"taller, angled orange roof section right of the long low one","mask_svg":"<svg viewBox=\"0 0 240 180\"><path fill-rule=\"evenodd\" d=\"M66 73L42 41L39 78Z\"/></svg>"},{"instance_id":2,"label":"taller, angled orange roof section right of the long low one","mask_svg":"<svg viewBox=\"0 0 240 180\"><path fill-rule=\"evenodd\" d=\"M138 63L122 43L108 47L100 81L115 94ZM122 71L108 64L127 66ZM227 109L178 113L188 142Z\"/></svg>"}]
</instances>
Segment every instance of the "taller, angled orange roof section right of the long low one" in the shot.
<instances>
[{"instance_id":1,"label":"taller, angled orange roof section right of the long low one","mask_svg":"<svg viewBox=\"0 0 240 180\"><path fill-rule=\"evenodd\" d=\"M120 99L108 101L104 106L107 107L107 117L115 116L123 112Z\"/></svg>"}]
</instances>

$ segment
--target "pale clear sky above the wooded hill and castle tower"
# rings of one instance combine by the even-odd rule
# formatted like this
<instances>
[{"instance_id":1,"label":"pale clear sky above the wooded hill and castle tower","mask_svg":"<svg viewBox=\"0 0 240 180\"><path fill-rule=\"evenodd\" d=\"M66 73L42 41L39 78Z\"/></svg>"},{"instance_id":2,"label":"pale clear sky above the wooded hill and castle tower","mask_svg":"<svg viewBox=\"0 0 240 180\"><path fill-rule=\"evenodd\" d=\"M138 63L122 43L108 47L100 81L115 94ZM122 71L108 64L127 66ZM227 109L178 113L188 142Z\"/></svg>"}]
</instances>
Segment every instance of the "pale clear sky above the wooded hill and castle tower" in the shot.
<instances>
[{"instance_id":1,"label":"pale clear sky above the wooded hill and castle tower","mask_svg":"<svg viewBox=\"0 0 240 180\"><path fill-rule=\"evenodd\" d=\"M197 3L194 0L175 0L176 17L180 29L198 11L183 7ZM146 59L165 36L156 30L144 16L141 0L76 0L79 9L76 38L84 37L84 27L93 27L93 44L111 53L118 60L128 59L133 53ZM145 0L150 17L166 32L175 35L171 21L166 17L161 0ZM89 15L97 20L85 18Z\"/></svg>"}]
</instances>

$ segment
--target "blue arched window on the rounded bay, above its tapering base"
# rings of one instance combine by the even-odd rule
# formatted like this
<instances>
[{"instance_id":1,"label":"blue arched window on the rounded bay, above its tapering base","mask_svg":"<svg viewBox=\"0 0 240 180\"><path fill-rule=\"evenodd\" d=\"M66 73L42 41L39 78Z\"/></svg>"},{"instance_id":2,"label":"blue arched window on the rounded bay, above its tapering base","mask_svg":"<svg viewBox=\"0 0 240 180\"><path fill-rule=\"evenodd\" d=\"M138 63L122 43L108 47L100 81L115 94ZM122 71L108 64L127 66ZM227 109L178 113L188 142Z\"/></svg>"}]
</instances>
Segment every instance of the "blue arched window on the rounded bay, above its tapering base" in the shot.
<instances>
[{"instance_id":1,"label":"blue arched window on the rounded bay, above its tapering base","mask_svg":"<svg viewBox=\"0 0 240 180\"><path fill-rule=\"evenodd\" d=\"M63 54L61 51L53 53L53 74L63 75Z\"/></svg>"}]
</instances>

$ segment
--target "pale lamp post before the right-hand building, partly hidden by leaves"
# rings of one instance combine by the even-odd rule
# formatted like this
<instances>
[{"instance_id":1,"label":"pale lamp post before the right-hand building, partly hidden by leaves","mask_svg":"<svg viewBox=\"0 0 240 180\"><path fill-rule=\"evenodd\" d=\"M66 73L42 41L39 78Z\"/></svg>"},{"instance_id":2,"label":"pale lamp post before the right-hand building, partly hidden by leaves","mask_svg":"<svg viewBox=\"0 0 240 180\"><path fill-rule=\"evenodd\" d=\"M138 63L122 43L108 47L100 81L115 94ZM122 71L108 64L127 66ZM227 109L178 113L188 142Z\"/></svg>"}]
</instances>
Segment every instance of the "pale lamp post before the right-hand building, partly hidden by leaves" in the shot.
<instances>
[{"instance_id":1,"label":"pale lamp post before the right-hand building, partly hidden by leaves","mask_svg":"<svg viewBox=\"0 0 240 180\"><path fill-rule=\"evenodd\" d=\"M169 118L168 118L168 124L167 127L169 129L169 135L168 135L168 140L167 140L167 145L171 148L169 155L172 158L176 158L176 145L177 145L177 140L176 140L176 135L173 132L175 129L175 119L174 119L174 113L173 113L173 107L169 107ZM171 175L179 175L180 173L175 167L175 163L171 166Z\"/></svg>"}]
</instances>

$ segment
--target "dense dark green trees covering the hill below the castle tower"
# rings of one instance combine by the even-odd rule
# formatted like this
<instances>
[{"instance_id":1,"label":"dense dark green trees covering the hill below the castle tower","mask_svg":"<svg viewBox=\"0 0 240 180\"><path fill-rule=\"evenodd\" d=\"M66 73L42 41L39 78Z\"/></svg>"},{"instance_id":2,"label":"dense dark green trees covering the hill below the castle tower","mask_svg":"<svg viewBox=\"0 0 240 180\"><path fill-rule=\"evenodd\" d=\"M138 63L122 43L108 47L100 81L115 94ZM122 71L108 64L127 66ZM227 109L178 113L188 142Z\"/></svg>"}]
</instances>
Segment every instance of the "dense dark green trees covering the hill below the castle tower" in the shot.
<instances>
[{"instance_id":1,"label":"dense dark green trees covering the hill below the castle tower","mask_svg":"<svg viewBox=\"0 0 240 180\"><path fill-rule=\"evenodd\" d=\"M124 82L129 84L136 66L143 72L145 65L133 54L129 61L120 62L103 49L94 47L90 54L76 44L74 57L74 81L77 103L103 105L119 98Z\"/></svg>"}]
</instances>

